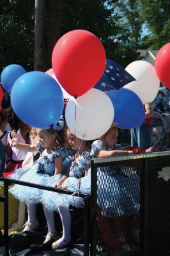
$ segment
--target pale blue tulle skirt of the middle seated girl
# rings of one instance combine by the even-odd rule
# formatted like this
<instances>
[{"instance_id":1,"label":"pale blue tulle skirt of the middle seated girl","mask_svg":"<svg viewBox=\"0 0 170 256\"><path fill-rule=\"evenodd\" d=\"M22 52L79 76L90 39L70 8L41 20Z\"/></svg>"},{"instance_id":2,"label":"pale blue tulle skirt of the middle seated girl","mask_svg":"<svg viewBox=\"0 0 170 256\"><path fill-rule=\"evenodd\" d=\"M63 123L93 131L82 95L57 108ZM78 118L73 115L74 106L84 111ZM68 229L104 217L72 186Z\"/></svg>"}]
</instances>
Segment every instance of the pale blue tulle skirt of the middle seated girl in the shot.
<instances>
[{"instance_id":1,"label":"pale blue tulle skirt of the middle seated girl","mask_svg":"<svg viewBox=\"0 0 170 256\"><path fill-rule=\"evenodd\" d=\"M89 195L91 193L91 170L88 170L87 176L80 179L68 177L62 185L67 185L68 190L73 191L73 194L66 195L57 192L44 192L42 194L41 203L48 211L58 211L58 206L68 208L70 205L72 205L79 208L84 205L83 198L80 196L75 196L74 194L78 192Z\"/></svg>"}]
</instances>

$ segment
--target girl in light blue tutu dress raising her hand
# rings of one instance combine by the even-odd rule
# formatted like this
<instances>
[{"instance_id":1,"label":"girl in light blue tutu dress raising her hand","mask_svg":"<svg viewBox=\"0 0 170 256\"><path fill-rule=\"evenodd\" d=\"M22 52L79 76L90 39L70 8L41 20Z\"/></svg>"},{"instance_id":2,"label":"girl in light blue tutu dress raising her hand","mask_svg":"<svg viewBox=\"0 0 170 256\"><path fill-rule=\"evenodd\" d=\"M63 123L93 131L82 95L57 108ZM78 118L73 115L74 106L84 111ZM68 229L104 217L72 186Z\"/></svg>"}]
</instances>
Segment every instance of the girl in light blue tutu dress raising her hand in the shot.
<instances>
[{"instance_id":1,"label":"girl in light blue tutu dress raising her hand","mask_svg":"<svg viewBox=\"0 0 170 256\"><path fill-rule=\"evenodd\" d=\"M63 159L65 159L65 148L56 140L57 134L54 129L37 129L39 140L36 145L20 144L17 141L17 136L14 136L13 147L27 152L38 151L40 158L38 163L33 166L26 166L16 170L11 179L17 179L35 184L48 185L49 177L56 176L56 180L61 178ZM20 202L27 204L28 220L25 224L26 230L35 230L38 228L38 220L36 220L36 205L40 202L42 189L30 188L15 184L10 189L15 198Z\"/></svg>"}]
</instances>

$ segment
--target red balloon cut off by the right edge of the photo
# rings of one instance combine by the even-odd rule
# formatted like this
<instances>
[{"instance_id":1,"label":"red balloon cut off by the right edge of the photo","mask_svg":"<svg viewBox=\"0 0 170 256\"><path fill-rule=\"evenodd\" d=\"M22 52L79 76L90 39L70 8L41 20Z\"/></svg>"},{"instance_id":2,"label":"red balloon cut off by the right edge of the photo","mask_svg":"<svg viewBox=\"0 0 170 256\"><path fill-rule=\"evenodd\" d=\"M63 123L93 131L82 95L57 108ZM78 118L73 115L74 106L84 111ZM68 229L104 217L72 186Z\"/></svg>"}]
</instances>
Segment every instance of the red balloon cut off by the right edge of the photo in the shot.
<instances>
[{"instance_id":1,"label":"red balloon cut off by the right edge of the photo","mask_svg":"<svg viewBox=\"0 0 170 256\"><path fill-rule=\"evenodd\" d=\"M160 81L170 89L170 43L158 51L155 58L155 70Z\"/></svg>"}]
</instances>

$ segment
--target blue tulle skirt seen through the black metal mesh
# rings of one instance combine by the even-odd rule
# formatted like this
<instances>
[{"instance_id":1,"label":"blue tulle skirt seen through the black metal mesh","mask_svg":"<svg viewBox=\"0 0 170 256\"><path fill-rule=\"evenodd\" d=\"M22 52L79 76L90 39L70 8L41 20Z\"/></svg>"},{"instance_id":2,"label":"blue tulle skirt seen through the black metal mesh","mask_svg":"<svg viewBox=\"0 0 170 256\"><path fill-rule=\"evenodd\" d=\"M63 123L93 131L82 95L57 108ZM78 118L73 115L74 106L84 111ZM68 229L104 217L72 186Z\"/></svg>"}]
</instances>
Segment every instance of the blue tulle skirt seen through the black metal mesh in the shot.
<instances>
[{"instance_id":1,"label":"blue tulle skirt seen through the black metal mesh","mask_svg":"<svg viewBox=\"0 0 170 256\"><path fill-rule=\"evenodd\" d=\"M139 212L139 175L112 175L98 170L97 204L105 216L123 216Z\"/></svg>"}]
</instances>

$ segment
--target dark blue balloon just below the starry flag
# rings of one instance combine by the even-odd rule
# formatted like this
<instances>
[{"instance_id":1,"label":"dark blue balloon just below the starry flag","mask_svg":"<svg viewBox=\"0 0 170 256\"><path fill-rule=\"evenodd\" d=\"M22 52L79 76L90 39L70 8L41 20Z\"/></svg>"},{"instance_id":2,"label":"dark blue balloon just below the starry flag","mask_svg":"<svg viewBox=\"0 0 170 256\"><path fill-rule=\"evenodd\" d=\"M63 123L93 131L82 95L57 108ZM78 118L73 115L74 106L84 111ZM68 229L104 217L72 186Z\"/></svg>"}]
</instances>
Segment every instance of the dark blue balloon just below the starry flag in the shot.
<instances>
[{"instance_id":1,"label":"dark blue balloon just below the starry flag","mask_svg":"<svg viewBox=\"0 0 170 256\"><path fill-rule=\"evenodd\" d=\"M137 94L126 88L111 90L107 95L114 106L114 120L118 127L130 129L143 124L145 114L143 102Z\"/></svg>"}]
</instances>

